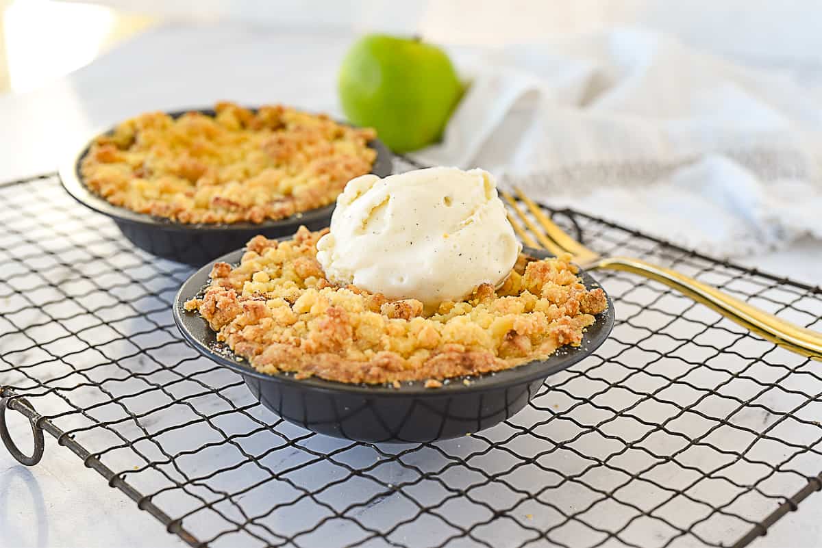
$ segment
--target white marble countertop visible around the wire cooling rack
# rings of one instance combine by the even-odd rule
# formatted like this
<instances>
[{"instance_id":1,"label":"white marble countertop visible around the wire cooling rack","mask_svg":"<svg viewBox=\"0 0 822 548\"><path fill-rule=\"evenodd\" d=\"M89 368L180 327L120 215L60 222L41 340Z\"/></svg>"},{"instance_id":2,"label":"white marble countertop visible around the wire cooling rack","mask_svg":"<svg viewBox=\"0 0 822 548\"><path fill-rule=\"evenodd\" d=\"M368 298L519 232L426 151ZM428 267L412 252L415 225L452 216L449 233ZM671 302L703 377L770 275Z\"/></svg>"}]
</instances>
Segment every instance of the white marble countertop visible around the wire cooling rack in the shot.
<instances>
[{"instance_id":1,"label":"white marble countertop visible around the wire cooling rack","mask_svg":"<svg viewBox=\"0 0 822 548\"><path fill-rule=\"evenodd\" d=\"M0 180L53 171L96 128L150 109L231 98L339 113L335 70L351 38L231 26L150 31L44 89L0 96ZM822 242L740 262L816 285ZM21 439L26 430L14 427ZM820 511L822 496L811 497L754 546L820 546ZM0 532L0 546L182 546L53 439L35 468L0 450Z\"/></svg>"}]
</instances>

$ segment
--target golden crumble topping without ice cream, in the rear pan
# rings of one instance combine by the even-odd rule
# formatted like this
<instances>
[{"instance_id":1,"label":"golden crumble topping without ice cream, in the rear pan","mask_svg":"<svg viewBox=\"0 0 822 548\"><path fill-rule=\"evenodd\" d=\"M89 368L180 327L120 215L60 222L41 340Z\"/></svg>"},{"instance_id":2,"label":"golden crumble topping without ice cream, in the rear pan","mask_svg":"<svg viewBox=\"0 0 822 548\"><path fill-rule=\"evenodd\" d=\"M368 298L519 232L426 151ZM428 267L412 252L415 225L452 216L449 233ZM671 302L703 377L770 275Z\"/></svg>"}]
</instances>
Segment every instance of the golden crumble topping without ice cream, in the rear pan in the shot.
<instances>
[{"instance_id":1,"label":"golden crumble topping without ice cream, in the rear pan","mask_svg":"<svg viewBox=\"0 0 822 548\"><path fill-rule=\"evenodd\" d=\"M91 144L85 185L114 205L178 222L260 223L332 203L376 158L367 146L374 130L323 114L233 103L215 112L122 122Z\"/></svg>"}]
</instances>

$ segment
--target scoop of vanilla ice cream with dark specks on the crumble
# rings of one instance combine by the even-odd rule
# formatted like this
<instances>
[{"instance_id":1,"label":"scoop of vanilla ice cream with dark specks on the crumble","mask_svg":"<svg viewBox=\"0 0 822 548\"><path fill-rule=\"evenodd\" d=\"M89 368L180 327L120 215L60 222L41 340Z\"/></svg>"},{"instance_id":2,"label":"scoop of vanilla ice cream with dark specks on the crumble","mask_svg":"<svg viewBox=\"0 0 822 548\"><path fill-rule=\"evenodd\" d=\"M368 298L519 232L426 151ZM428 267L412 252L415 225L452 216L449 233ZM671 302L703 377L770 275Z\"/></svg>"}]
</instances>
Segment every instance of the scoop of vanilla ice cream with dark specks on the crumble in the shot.
<instances>
[{"instance_id":1,"label":"scoop of vanilla ice cream with dark specks on the crumble","mask_svg":"<svg viewBox=\"0 0 822 548\"><path fill-rule=\"evenodd\" d=\"M431 306L501 284L522 246L490 173L431 167L350 180L316 249L330 281Z\"/></svg>"}]
</instances>

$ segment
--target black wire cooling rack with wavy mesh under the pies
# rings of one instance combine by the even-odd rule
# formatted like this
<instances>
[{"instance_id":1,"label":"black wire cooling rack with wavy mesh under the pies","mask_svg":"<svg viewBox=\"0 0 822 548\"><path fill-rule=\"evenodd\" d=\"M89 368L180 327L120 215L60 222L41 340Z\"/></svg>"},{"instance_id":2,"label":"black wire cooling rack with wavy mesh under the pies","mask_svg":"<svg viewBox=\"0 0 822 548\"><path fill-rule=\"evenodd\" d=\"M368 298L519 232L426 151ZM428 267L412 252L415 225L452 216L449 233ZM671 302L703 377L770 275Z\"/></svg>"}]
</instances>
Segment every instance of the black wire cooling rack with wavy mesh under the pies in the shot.
<instances>
[{"instance_id":1,"label":"black wire cooling rack with wavy mesh under the pies","mask_svg":"<svg viewBox=\"0 0 822 548\"><path fill-rule=\"evenodd\" d=\"M552 213L599 252L822 329L819 287ZM192 546L741 547L822 487L822 363L653 281L597 272L612 337L513 418L368 445L282 421L198 357L170 312L192 270L54 176L3 185L0 226L0 412L35 433L33 457L12 454L36 464L47 432Z\"/></svg>"}]
</instances>

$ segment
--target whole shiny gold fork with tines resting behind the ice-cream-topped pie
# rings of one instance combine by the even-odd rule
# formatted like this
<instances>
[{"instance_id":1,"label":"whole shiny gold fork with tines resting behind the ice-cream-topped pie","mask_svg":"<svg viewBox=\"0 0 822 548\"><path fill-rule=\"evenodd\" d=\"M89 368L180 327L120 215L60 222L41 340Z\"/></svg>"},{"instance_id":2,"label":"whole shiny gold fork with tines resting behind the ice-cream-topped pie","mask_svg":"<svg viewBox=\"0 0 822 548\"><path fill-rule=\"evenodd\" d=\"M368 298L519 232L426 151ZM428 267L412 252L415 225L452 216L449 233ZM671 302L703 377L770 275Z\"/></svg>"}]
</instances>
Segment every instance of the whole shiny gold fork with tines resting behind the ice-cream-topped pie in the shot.
<instances>
[{"instance_id":1,"label":"whole shiny gold fork with tines resting behind the ice-cream-topped pie","mask_svg":"<svg viewBox=\"0 0 822 548\"><path fill-rule=\"evenodd\" d=\"M696 281L679 272L674 272L669 268L646 263L639 258L602 257L571 238L559 226L556 226L522 190L515 190L520 200L533 214L533 218L542 226L542 228L537 226L525 214L513 196L501 192L503 198L509 203L511 210L516 213L517 217L520 217L524 225L536 236L536 240L534 240L528 231L525 231L517 217L509 211L508 220L525 245L533 248L544 248L555 255L570 253L574 263L585 270L609 268L632 272L659 281L680 291L683 295L695 299L697 302L708 305L724 317L737 322L742 327L754 331L777 345L808 358L822 360L822 335L820 333L781 320L773 314L766 313L740 299L726 295L715 287Z\"/></svg>"}]
</instances>

